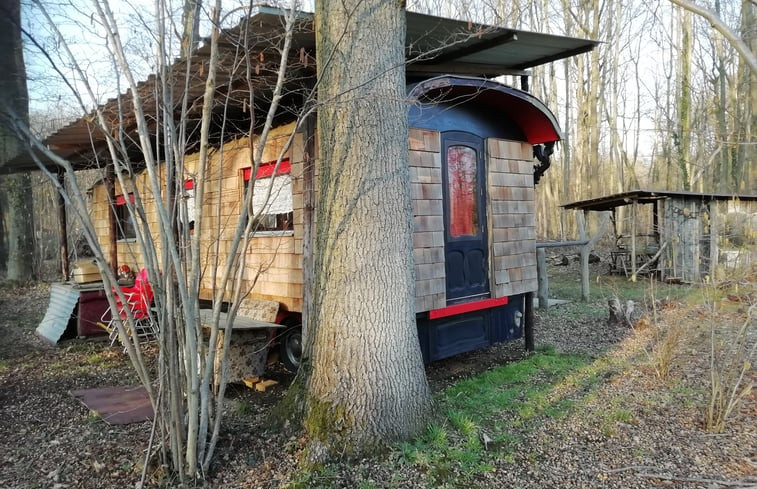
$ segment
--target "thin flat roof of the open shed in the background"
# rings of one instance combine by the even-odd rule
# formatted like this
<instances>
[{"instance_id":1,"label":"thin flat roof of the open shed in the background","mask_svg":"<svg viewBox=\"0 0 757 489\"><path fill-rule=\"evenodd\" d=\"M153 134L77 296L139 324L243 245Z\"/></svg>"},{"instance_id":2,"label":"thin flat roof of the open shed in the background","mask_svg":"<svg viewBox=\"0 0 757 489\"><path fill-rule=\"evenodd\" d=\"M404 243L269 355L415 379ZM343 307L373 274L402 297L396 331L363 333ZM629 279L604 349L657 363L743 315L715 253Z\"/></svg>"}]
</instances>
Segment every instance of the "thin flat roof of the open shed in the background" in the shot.
<instances>
[{"instance_id":1,"label":"thin flat roof of the open shed in the background","mask_svg":"<svg viewBox=\"0 0 757 489\"><path fill-rule=\"evenodd\" d=\"M719 194L707 192L684 192L675 190L630 190L617 194L605 195L594 199L578 200L569 204L563 204L565 209L580 209L585 211L609 211L616 207L632 204L651 204L657 200L667 198L680 198L684 200L746 200L755 201L754 194Z\"/></svg>"}]
</instances>

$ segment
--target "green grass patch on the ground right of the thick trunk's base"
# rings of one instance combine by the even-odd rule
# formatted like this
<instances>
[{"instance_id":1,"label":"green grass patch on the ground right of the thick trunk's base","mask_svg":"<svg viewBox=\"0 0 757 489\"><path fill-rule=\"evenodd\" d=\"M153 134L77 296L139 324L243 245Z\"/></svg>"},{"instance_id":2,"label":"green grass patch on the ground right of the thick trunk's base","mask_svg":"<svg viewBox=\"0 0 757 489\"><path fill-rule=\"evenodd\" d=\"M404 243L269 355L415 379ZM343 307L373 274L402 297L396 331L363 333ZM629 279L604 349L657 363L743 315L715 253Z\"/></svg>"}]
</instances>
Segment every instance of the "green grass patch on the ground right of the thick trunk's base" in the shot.
<instances>
[{"instance_id":1,"label":"green grass patch on the ground right of the thick trunk's base","mask_svg":"<svg viewBox=\"0 0 757 489\"><path fill-rule=\"evenodd\" d=\"M422 436L399 445L399 459L424 471L430 487L474 487L496 460L514 460L523 434L574 412L617 369L612 361L546 349L458 382L435 396L436 418Z\"/></svg>"}]
</instances>

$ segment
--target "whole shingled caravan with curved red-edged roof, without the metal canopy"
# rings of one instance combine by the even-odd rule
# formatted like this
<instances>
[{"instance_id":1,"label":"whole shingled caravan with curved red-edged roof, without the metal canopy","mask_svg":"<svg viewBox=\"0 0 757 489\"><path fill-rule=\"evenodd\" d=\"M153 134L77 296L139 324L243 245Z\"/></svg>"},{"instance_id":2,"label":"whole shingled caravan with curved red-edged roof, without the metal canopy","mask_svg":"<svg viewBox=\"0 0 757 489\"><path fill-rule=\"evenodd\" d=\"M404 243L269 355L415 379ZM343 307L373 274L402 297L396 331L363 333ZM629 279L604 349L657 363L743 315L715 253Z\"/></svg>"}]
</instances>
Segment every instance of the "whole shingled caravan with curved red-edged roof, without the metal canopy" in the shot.
<instances>
[{"instance_id":1,"label":"whole shingled caravan with curved red-edged roof, without the metal canopy","mask_svg":"<svg viewBox=\"0 0 757 489\"><path fill-rule=\"evenodd\" d=\"M415 303L424 358L520 338L524 298L537 287L534 147L560 138L554 116L528 93L481 78L431 78L411 86L409 98ZM277 128L265 161L276 161L293 129L294 124ZM279 302L282 317L290 318L302 311L303 141L298 135L275 172L273 163L263 164L253 179L260 194L268 185L275 192L265 227L252 238L245 271L251 296ZM220 205L228 225L219 233L218 222L209 219L194 230L206 256L215 247L228 249L250 181L252 146L247 138L232 141L212 160L205 184L218 191L202 205L208 215ZM191 172L193 156L187 161ZM149 218L142 180L137 179L138 191ZM184 198L192 198L191 187L188 180ZM118 215L129 192L119 188L116 194ZM103 185L93 189L92 206L104 228L110 205ZM119 229L119 262L141 266L138 248L126 235L128 223L122 219ZM107 233L100 237L107 248ZM210 299L210 274L202 283Z\"/></svg>"}]
</instances>

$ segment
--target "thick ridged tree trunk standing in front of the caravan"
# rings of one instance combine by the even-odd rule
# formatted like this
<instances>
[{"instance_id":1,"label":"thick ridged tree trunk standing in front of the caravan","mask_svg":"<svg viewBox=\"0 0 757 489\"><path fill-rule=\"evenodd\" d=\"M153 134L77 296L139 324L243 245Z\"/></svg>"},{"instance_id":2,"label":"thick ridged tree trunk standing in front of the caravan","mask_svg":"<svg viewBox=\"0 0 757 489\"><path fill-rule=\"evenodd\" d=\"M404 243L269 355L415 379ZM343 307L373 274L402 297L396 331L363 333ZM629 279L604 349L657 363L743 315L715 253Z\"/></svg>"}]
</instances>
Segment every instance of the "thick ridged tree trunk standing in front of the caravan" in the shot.
<instances>
[{"instance_id":1,"label":"thick ridged tree trunk standing in front of the caravan","mask_svg":"<svg viewBox=\"0 0 757 489\"><path fill-rule=\"evenodd\" d=\"M312 460L354 456L424 423L414 312L399 2L316 2L319 196L302 374Z\"/></svg>"}]
</instances>

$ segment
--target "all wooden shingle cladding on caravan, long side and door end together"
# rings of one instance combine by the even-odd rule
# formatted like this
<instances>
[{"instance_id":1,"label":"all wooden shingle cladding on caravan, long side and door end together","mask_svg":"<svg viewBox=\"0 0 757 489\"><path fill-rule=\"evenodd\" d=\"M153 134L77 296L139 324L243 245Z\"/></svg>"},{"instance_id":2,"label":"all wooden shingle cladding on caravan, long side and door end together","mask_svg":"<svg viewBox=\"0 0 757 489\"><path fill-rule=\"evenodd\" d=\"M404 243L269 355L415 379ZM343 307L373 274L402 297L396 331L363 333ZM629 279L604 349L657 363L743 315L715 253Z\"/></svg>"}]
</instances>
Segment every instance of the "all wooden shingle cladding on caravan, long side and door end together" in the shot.
<instances>
[{"instance_id":1,"label":"all wooden shingle cladding on caravan, long side and door end together","mask_svg":"<svg viewBox=\"0 0 757 489\"><path fill-rule=\"evenodd\" d=\"M292 129L291 125L284 126L271 135L263 161L277 158ZM528 143L493 139L487 141L487 210L492 297L536 290L536 229L531 151ZM254 284L250 297L274 300L290 311L301 311L304 160L301 135L295 137L289 158L292 168L294 232L256 235L246 254L244 280L248 287ZM438 132L410 130L409 166L414 221L416 312L447 305L441 158ZM227 143L222 151L217 150L211 156L205 181L203 226L199 230L204 262L201 282L203 298L211 297L211 270L216 268L219 274L222 273L231 248L242 205L242 169L250 166L250 160L250 144L246 138ZM187 178L192 176L196 162L196 155L187 156ZM165 177L162 178L165 181ZM149 225L153 232L157 233L155 198L146 185L146 176L138 175L133 184L142 193ZM117 186L116 194L124 193L128 192L121 191ZM108 212L110 209L105 188L99 185L93 189L92 214L106 256ZM118 252L120 263L127 263L137 269L144 266L136 243L120 242Z\"/></svg>"}]
</instances>

